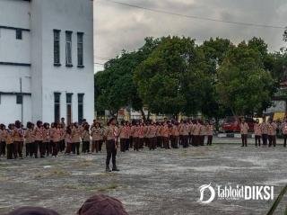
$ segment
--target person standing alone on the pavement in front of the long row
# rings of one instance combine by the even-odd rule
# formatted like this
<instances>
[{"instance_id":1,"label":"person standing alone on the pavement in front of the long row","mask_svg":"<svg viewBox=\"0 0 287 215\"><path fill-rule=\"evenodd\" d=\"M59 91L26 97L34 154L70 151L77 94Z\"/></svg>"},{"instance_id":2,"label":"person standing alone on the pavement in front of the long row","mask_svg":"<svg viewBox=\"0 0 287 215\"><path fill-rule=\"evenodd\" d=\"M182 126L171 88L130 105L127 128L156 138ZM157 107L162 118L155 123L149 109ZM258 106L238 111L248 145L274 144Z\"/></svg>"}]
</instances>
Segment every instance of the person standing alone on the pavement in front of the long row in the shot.
<instances>
[{"instance_id":1,"label":"person standing alone on the pavement in front of the long row","mask_svg":"<svg viewBox=\"0 0 287 215\"><path fill-rule=\"evenodd\" d=\"M108 122L108 128L104 131L104 137L106 141L107 148L107 158L106 158L106 172L111 172L109 168L110 158L112 159L113 168L112 171L119 171L117 169L117 128L116 128L116 120L115 118L111 118Z\"/></svg>"}]
</instances>

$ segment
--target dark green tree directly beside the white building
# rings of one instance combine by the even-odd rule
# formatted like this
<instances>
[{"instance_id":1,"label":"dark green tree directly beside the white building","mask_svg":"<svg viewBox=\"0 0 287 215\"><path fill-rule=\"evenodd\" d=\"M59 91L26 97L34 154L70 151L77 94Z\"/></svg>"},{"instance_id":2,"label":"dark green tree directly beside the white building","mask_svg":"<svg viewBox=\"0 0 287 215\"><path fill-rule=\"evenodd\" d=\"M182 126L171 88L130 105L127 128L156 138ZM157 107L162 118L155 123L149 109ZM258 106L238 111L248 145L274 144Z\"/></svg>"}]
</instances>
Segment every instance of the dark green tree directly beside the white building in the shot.
<instances>
[{"instance_id":1,"label":"dark green tree directly beside the white building","mask_svg":"<svg viewBox=\"0 0 287 215\"><path fill-rule=\"evenodd\" d=\"M100 113L109 110L116 113L120 108L132 107L143 113L143 101L134 83L135 67L149 56L160 40L146 38L141 49L122 51L117 58L110 59L103 71L95 74L95 107Z\"/></svg>"}]
</instances>

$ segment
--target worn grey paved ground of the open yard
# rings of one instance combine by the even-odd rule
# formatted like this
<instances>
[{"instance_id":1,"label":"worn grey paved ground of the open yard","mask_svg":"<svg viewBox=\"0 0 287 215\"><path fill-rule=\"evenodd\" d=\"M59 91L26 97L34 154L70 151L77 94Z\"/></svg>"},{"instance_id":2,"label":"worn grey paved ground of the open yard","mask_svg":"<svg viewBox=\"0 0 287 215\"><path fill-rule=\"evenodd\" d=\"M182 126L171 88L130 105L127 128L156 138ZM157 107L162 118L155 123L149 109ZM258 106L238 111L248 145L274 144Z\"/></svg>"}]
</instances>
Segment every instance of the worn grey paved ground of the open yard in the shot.
<instances>
[{"instance_id":1,"label":"worn grey paved ground of the open yard","mask_svg":"<svg viewBox=\"0 0 287 215\"><path fill-rule=\"evenodd\" d=\"M287 184L287 148L240 148L235 139L212 147L118 153L121 171L106 174L105 153L0 161L0 214L22 205L75 214L94 193L120 199L132 215L265 214L272 202L196 202L202 184ZM283 214L284 197L276 214Z\"/></svg>"}]
</instances>

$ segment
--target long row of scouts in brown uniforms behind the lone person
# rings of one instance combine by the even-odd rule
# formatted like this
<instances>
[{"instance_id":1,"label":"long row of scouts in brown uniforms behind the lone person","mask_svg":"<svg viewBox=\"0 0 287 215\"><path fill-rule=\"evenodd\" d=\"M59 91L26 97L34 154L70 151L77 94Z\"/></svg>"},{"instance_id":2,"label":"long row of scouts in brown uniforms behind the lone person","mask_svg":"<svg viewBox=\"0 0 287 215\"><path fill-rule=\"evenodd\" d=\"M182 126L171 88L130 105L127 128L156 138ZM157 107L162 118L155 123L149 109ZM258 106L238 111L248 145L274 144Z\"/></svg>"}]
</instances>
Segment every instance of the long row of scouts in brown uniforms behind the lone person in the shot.
<instances>
[{"instance_id":1,"label":"long row of scouts in brown uniforms behind the lone person","mask_svg":"<svg viewBox=\"0 0 287 215\"><path fill-rule=\"evenodd\" d=\"M0 157L6 154L8 159L22 158L24 143L26 157L57 157L59 152L79 155L81 142L83 153L98 153L103 142L109 139L107 129L102 128L99 121L93 121L91 126L85 121L82 125L75 122L68 126L64 121L51 125L42 121L28 122L25 130L21 121L9 124L8 128L1 124ZM211 145L213 124L204 125L202 121L122 121L119 126L115 124L112 132L112 139L122 152L129 148L138 151L144 146L151 150L178 148L179 145L197 147L204 145L205 136L208 137L207 145Z\"/></svg>"}]
</instances>

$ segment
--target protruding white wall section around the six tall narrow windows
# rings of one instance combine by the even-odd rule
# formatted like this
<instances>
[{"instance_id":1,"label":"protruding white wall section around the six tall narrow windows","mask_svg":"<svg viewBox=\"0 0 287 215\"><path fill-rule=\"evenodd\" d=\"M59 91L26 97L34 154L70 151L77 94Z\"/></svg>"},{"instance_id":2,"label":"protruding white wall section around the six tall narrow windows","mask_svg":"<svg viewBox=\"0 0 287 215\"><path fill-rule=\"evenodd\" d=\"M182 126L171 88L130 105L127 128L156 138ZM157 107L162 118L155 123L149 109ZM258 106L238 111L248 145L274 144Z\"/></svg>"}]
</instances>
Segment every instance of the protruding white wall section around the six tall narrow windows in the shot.
<instances>
[{"instance_id":1,"label":"protruding white wall section around the six tall narrow windows","mask_svg":"<svg viewBox=\"0 0 287 215\"><path fill-rule=\"evenodd\" d=\"M93 14L91 0L33 0L41 7L42 120L54 120L54 92L61 93L61 117L66 117L65 94L73 94L73 121L78 120L77 94L84 94L83 117L92 121L93 93ZM33 9L33 6L32 6ZM59 16L58 14L61 14ZM53 30L61 30L61 67L54 66ZM74 67L65 67L65 31L72 34ZM83 32L83 68L77 67L77 32ZM38 107L36 107L38 108Z\"/></svg>"}]
</instances>

